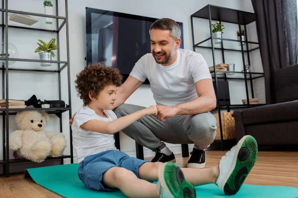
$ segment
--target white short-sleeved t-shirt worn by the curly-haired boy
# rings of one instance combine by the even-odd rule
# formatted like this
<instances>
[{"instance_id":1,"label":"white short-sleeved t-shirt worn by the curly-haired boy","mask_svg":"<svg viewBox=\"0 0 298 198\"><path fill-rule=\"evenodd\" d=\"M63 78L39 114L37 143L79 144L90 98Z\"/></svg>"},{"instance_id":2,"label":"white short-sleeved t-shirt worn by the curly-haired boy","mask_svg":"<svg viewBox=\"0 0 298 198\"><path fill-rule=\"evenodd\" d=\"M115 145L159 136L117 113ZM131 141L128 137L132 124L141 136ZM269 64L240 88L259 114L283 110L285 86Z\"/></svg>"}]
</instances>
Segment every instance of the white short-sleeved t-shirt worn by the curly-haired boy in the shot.
<instances>
[{"instance_id":1,"label":"white short-sleeved t-shirt worn by the curly-haired boy","mask_svg":"<svg viewBox=\"0 0 298 198\"><path fill-rule=\"evenodd\" d=\"M117 149L115 147L115 139L113 134L102 134L93 131L88 131L80 126L89 120L101 120L105 122L111 122L117 119L116 114L112 110L104 110L108 118L101 117L95 113L95 111L88 107L88 105L82 105L74 116L74 122L72 124L73 131L73 146L76 152L76 158L80 163L84 157L96 154L105 150Z\"/></svg>"}]
</instances>

